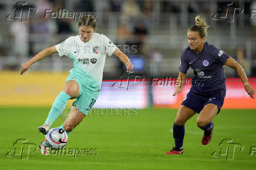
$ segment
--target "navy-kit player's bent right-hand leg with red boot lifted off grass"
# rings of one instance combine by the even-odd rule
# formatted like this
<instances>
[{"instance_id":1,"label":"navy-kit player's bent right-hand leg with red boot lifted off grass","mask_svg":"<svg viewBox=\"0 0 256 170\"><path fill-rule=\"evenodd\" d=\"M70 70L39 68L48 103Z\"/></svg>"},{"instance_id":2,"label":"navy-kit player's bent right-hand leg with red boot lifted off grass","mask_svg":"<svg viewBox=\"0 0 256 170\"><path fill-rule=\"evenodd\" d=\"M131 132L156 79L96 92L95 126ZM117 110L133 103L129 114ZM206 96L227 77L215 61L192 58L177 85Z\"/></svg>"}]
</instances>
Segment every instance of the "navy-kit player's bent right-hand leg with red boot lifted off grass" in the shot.
<instances>
[{"instance_id":1,"label":"navy-kit player's bent right-hand leg with red boot lifted off grass","mask_svg":"<svg viewBox=\"0 0 256 170\"><path fill-rule=\"evenodd\" d=\"M204 130L202 144L207 145L213 134L213 118L217 115L219 108L213 103L206 104L197 117L197 126Z\"/></svg>"}]
</instances>

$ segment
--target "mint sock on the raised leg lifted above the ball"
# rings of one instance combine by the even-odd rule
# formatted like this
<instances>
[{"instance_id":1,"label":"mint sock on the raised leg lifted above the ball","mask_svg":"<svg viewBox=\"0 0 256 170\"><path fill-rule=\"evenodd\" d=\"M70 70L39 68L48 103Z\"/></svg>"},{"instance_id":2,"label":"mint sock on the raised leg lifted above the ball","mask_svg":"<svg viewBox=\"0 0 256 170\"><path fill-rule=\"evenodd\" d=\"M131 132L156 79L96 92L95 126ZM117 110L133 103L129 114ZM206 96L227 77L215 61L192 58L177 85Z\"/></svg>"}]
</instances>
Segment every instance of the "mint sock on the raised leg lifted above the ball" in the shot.
<instances>
[{"instance_id":1,"label":"mint sock on the raised leg lifted above the ball","mask_svg":"<svg viewBox=\"0 0 256 170\"><path fill-rule=\"evenodd\" d=\"M65 109L69 99L70 96L66 94L65 91L60 92L52 104L52 108L50 109L48 117L46 118L45 124L49 124L49 126L52 125L56 118L58 118Z\"/></svg>"}]
</instances>

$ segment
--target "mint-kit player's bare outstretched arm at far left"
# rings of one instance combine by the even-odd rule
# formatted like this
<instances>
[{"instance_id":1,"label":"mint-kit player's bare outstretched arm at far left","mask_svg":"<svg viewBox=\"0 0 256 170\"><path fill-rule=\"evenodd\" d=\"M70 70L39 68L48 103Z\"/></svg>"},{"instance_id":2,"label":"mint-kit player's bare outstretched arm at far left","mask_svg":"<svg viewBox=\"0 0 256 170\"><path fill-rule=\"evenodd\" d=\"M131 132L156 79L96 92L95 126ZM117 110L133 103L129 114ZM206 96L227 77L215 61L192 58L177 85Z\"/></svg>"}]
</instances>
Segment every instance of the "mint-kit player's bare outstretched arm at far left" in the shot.
<instances>
[{"instance_id":1,"label":"mint-kit player's bare outstretched arm at far left","mask_svg":"<svg viewBox=\"0 0 256 170\"><path fill-rule=\"evenodd\" d=\"M28 62L25 62L21 65L21 75L25 73L33 63L38 62L39 60L42 60L43 58L50 56L56 52L57 50L55 46L48 47L42 50L42 52L39 52L37 55L33 56L32 59L28 60Z\"/></svg>"}]
</instances>

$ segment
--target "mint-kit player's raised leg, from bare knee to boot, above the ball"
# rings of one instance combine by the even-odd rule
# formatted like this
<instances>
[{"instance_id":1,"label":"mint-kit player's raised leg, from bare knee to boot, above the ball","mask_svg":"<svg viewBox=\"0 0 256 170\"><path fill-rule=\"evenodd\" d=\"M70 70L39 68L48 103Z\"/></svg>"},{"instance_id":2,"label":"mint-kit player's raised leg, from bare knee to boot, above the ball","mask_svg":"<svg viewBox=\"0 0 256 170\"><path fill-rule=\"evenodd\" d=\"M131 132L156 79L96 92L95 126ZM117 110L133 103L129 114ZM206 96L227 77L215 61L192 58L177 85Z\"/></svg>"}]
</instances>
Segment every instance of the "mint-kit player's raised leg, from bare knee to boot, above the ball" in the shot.
<instances>
[{"instance_id":1,"label":"mint-kit player's raised leg, from bare knee to boot, above the ball","mask_svg":"<svg viewBox=\"0 0 256 170\"><path fill-rule=\"evenodd\" d=\"M56 97L52 108L49 111L48 117L45 123L38 128L42 134L46 134L49 130L50 125L59 117L62 111L66 107L66 103L70 98L76 98L79 96L79 84L75 80L66 81L64 91Z\"/></svg>"}]
</instances>

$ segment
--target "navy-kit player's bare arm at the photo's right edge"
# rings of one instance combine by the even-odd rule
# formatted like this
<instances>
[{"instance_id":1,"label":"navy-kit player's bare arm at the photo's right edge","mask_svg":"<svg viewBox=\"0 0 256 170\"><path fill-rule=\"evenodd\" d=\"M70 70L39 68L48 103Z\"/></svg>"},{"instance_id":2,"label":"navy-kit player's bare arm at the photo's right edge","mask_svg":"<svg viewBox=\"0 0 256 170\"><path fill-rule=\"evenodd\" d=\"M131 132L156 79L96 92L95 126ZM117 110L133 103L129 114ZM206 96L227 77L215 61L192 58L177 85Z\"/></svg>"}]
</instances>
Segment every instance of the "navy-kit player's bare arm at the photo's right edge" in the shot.
<instances>
[{"instance_id":1,"label":"navy-kit player's bare arm at the photo's right edge","mask_svg":"<svg viewBox=\"0 0 256 170\"><path fill-rule=\"evenodd\" d=\"M245 91L254 98L254 89L251 87L251 85L248 82L247 76L244 72L244 69L240 64L238 64L232 57L228 57L227 61L225 62L225 65L237 70L237 74L242 80L242 83L244 84Z\"/></svg>"}]
</instances>

